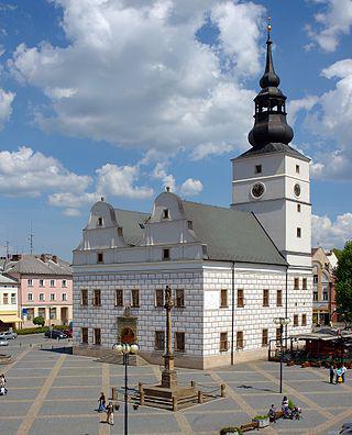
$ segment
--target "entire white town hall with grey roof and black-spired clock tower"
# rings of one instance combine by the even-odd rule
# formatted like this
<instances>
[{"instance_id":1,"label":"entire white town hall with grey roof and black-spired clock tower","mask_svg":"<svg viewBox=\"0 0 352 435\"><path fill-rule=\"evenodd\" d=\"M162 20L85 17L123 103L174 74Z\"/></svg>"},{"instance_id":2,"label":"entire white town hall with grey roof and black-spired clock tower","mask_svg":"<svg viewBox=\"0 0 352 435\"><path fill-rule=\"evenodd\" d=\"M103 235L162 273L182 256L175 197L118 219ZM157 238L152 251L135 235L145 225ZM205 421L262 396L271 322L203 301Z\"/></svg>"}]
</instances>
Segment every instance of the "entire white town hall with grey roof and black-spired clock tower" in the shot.
<instances>
[{"instance_id":1,"label":"entire white town hall with grey roof and black-spired clock tower","mask_svg":"<svg viewBox=\"0 0 352 435\"><path fill-rule=\"evenodd\" d=\"M135 342L151 362L165 352L164 290L174 297L175 365L209 368L265 357L280 338L310 332L309 159L293 148L286 97L266 42L254 99L252 148L232 159L230 208L166 189L151 213L91 208L74 250L74 353Z\"/></svg>"}]
</instances>

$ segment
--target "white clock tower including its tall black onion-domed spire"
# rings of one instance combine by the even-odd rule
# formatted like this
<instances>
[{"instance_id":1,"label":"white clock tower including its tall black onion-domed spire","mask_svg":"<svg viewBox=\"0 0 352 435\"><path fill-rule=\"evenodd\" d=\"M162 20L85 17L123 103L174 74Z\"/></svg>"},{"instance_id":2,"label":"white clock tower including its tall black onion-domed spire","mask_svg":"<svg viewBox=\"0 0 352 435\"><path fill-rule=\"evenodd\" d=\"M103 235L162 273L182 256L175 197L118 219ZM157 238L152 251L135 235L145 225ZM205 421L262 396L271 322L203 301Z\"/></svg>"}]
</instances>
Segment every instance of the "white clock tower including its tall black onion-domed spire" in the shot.
<instances>
[{"instance_id":1,"label":"white clock tower including its tall black onion-domed spire","mask_svg":"<svg viewBox=\"0 0 352 435\"><path fill-rule=\"evenodd\" d=\"M267 27L266 65L254 99L252 149L232 159L232 208L251 211L290 268L311 267L309 158L289 146L286 97L279 86Z\"/></svg>"}]
</instances>

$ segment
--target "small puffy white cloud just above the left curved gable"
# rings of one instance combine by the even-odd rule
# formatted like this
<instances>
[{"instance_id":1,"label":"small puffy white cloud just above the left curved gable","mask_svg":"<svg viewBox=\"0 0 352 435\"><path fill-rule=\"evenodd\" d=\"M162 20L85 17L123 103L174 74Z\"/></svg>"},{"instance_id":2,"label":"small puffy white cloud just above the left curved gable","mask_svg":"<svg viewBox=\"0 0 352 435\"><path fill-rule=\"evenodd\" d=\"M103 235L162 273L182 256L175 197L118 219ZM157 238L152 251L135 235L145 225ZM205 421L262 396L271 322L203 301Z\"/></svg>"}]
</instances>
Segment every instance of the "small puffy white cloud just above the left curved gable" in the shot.
<instances>
[{"instance_id":1,"label":"small puffy white cloud just above the left curved gable","mask_svg":"<svg viewBox=\"0 0 352 435\"><path fill-rule=\"evenodd\" d=\"M140 172L138 166L107 164L96 172L98 174L97 192L99 193L130 199L145 199L154 194L152 188L134 186Z\"/></svg>"}]
</instances>

